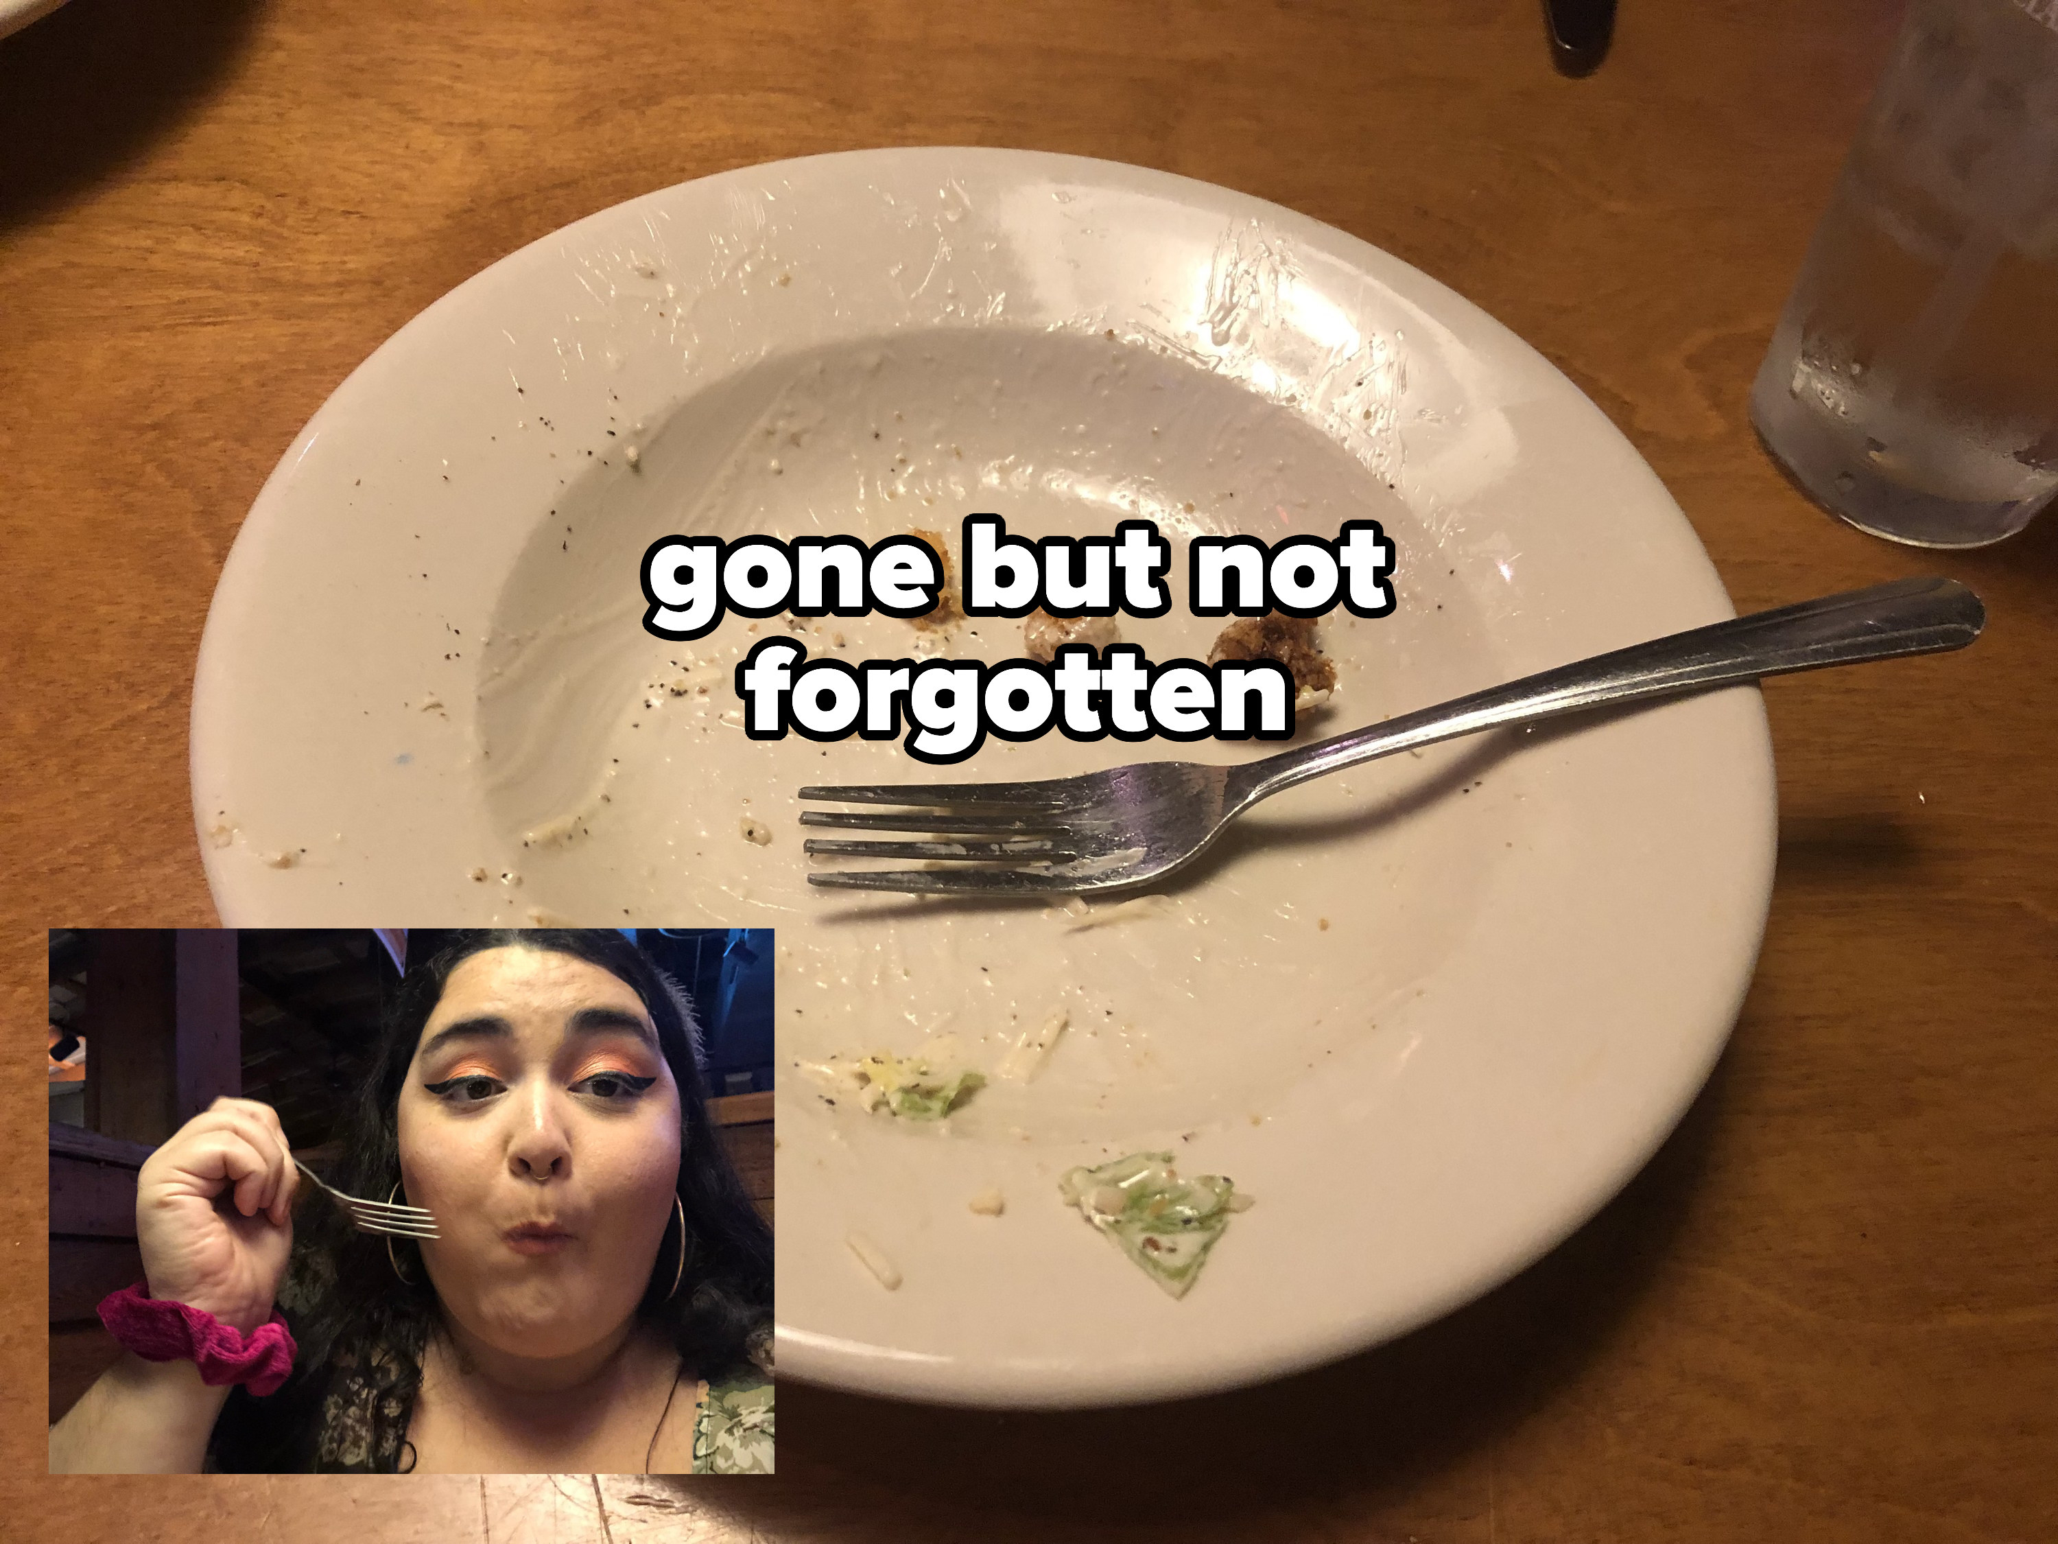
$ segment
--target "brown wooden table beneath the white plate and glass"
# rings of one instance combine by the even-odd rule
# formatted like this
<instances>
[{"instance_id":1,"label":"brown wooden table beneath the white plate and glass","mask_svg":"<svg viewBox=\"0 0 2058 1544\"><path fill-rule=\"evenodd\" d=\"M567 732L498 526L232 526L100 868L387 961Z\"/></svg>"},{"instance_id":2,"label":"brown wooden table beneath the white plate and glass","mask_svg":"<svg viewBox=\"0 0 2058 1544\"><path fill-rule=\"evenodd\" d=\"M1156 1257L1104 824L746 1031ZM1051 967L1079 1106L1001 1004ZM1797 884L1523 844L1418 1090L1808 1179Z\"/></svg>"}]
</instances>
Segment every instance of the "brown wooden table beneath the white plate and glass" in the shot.
<instances>
[{"instance_id":1,"label":"brown wooden table beneath the white plate and glass","mask_svg":"<svg viewBox=\"0 0 2058 1544\"><path fill-rule=\"evenodd\" d=\"M2058 1536L2058 517L1986 554L1891 548L1815 513L1745 424L1891 29L1860 0L1626 0L1587 80L1552 74L1535 0L72 0L0 43L16 1038L43 926L212 920L193 655L300 422L494 257L753 161L1033 146L1278 200L1556 360L1677 494L1739 609L1947 572L1994 618L1967 655L1768 690L1780 881L1712 1085L1593 1225L1395 1346L1128 1414L788 1385L774 1480L673 1490L51 1482L14 1472L41 1464L41 1402L16 1398L0 1532ZM41 1145L25 1079L6 1116ZM4 1208L0 1367L23 1390L41 1202Z\"/></svg>"}]
</instances>

